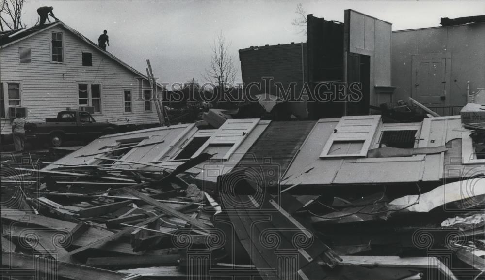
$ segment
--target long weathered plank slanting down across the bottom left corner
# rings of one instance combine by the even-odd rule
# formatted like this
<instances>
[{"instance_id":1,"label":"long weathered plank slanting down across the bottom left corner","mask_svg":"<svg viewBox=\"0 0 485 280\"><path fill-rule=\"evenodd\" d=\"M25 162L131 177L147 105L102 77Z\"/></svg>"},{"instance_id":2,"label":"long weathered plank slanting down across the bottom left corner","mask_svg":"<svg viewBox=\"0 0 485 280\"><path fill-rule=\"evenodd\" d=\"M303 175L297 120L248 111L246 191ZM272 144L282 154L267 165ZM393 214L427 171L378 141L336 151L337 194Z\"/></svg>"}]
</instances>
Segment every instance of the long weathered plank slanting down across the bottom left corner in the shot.
<instances>
[{"instance_id":1,"label":"long weathered plank slanting down across the bottom left corner","mask_svg":"<svg viewBox=\"0 0 485 280\"><path fill-rule=\"evenodd\" d=\"M46 258L39 258L20 253L3 252L1 258L2 266L10 269L25 269L32 271L32 276L40 276L38 279L51 279L49 275L73 280L103 279L120 280L127 275L121 272L77 265ZM37 279L37 278L36 278Z\"/></svg>"}]
</instances>

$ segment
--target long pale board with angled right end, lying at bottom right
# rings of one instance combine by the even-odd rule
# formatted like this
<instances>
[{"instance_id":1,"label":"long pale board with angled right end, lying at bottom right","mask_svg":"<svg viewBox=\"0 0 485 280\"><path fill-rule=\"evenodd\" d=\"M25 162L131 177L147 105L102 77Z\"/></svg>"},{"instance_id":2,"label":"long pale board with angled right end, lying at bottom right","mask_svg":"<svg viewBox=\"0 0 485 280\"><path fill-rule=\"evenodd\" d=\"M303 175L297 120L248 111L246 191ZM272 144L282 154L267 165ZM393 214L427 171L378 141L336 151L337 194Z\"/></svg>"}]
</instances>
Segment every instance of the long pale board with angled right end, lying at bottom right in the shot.
<instances>
[{"instance_id":1,"label":"long pale board with angled right end, lying at bottom right","mask_svg":"<svg viewBox=\"0 0 485 280\"><path fill-rule=\"evenodd\" d=\"M457 279L453 272L436 257L396 257L396 256L340 256L340 265L363 265L372 267L434 268L447 276Z\"/></svg>"}]
</instances>

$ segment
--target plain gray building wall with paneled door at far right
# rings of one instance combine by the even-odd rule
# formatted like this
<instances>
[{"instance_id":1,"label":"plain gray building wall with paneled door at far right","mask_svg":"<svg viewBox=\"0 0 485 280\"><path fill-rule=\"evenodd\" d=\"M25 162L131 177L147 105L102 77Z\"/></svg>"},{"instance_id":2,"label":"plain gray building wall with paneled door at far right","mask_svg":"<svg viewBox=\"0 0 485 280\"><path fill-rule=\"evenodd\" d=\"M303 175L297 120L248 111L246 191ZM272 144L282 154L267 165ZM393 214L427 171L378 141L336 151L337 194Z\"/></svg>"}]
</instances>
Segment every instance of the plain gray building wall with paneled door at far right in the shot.
<instances>
[{"instance_id":1,"label":"plain gray building wall with paneled door at far right","mask_svg":"<svg viewBox=\"0 0 485 280\"><path fill-rule=\"evenodd\" d=\"M392 85L399 87L394 92L394 101L412 97L430 107L465 105L467 81L470 91L485 87L484 45L484 22L392 32ZM443 75L442 80L416 77L420 70L426 70L427 61L431 67L428 72L444 64L443 70L436 73ZM430 89L425 90L424 86ZM429 92L434 88L436 93ZM427 91L429 97L422 96ZM439 113L456 114L449 110Z\"/></svg>"}]
</instances>

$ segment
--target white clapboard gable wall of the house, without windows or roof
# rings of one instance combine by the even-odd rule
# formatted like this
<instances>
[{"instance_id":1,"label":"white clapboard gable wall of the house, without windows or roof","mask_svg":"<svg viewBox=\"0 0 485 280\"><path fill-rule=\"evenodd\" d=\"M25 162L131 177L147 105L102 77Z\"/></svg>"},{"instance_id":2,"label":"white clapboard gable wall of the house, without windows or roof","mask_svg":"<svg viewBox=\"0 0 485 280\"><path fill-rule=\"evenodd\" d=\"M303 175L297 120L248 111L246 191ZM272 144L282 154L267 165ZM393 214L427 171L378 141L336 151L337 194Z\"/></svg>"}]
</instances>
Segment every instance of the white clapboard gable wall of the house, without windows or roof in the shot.
<instances>
[{"instance_id":1,"label":"white clapboard gable wall of the house, without windows or roof","mask_svg":"<svg viewBox=\"0 0 485 280\"><path fill-rule=\"evenodd\" d=\"M52 31L63 33L65 61L61 64L51 62L49 34ZM29 57L26 49L30 49L30 63L21 62ZM82 52L92 53L93 66L82 65ZM66 107L77 109L80 106L78 84L87 83L99 84L101 88L101 113L93 115L97 121L158 123L154 104L151 112L145 112L144 101L137 100L137 75L62 25L2 47L0 57L1 82L20 84L21 106L27 108L27 121L54 118ZM132 113L124 113L124 89L131 90ZM1 119L1 134L12 133L10 122L8 118Z\"/></svg>"}]
</instances>

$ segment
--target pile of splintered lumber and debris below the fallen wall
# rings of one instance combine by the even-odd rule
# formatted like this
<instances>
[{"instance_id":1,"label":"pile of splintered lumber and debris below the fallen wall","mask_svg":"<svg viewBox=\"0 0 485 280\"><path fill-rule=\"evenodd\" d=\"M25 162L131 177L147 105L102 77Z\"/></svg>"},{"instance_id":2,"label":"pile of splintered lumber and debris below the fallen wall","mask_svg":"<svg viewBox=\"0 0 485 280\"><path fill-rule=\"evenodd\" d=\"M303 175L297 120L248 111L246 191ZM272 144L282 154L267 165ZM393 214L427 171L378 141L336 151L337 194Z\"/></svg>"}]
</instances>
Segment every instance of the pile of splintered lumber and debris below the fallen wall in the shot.
<instances>
[{"instance_id":1,"label":"pile of splintered lumber and debris below the fallen wall","mask_svg":"<svg viewBox=\"0 0 485 280\"><path fill-rule=\"evenodd\" d=\"M482 127L471 126L483 140ZM474 146L477 154L483 154L481 143ZM434 148L446 151L429 149ZM252 177L270 169L243 160L206 182L189 170L212 154L179 160L169 169L121 160L116 153L124 149L89 154L101 160L91 165L65 159L10 164L7 173L2 166L6 273L75 280L484 275L483 176L338 191L277 188L273 177ZM396 156L406 155L391 155ZM56 168L40 169L44 164Z\"/></svg>"}]
</instances>

